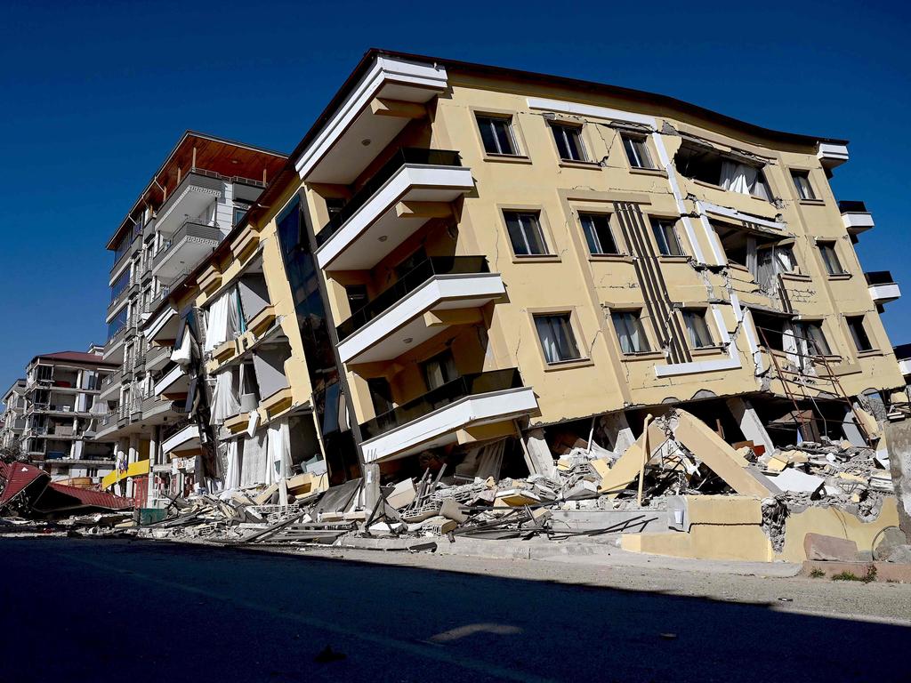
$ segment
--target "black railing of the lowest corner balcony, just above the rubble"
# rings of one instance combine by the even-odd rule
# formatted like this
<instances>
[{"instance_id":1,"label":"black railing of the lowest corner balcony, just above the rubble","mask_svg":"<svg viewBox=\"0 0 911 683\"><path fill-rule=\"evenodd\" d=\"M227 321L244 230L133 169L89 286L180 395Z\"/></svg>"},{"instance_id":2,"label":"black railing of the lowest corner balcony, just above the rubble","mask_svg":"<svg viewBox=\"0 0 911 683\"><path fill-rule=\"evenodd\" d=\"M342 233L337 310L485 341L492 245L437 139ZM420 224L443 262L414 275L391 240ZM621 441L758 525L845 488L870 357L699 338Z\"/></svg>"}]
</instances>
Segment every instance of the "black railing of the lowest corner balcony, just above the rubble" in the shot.
<instances>
[{"instance_id":1,"label":"black railing of the lowest corner balcony, just above the rubble","mask_svg":"<svg viewBox=\"0 0 911 683\"><path fill-rule=\"evenodd\" d=\"M364 439L372 439L374 436L417 420L427 413L433 413L438 408L466 398L466 396L501 392L521 386L522 378L516 368L466 374L426 392L423 396L418 396L413 401L403 403L398 408L379 414L373 420L362 423L361 433Z\"/></svg>"}]
</instances>

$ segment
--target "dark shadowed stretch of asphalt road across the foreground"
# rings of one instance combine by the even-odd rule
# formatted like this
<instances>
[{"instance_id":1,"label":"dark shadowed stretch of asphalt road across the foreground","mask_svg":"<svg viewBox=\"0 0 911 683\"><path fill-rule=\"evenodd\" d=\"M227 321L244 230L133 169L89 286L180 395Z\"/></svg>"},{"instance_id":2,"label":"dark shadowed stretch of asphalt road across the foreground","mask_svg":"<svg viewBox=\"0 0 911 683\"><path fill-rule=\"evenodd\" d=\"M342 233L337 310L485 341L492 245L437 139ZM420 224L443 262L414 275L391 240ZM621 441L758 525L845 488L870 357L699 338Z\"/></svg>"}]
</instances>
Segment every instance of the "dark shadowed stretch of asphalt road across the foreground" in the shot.
<instances>
[{"instance_id":1,"label":"dark shadowed stretch of asphalt road across the foreground","mask_svg":"<svg viewBox=\"0 0 911 683\"><path fill-rule=\"evenodd\" d=\"M2 683L911 679L911 628L768 605L139 541L0 566Z\"/></svg>"}]
</instances>

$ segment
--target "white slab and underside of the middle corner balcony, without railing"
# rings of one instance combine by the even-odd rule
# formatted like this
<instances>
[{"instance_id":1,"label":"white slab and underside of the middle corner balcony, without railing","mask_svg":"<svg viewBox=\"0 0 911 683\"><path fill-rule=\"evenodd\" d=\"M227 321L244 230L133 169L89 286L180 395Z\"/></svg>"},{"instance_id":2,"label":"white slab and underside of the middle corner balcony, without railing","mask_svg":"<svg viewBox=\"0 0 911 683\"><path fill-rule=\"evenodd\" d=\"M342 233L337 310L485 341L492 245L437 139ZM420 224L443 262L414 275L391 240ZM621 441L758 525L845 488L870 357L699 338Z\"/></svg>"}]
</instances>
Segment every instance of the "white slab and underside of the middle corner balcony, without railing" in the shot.
<instances>
[{"instance_id":1,"label":"white slab and underside of the middle corner balcony, without railing","mask_svg":"<svg viewBox=\"0 0 911 683\"><path fill-rule=\"evenodd\" d=\"M499 273L435 275L339 344L342 362L390 361L435 337L446 325L427 326L427 311L478 308L503 296Z\"/></svg>"}]
</instances>

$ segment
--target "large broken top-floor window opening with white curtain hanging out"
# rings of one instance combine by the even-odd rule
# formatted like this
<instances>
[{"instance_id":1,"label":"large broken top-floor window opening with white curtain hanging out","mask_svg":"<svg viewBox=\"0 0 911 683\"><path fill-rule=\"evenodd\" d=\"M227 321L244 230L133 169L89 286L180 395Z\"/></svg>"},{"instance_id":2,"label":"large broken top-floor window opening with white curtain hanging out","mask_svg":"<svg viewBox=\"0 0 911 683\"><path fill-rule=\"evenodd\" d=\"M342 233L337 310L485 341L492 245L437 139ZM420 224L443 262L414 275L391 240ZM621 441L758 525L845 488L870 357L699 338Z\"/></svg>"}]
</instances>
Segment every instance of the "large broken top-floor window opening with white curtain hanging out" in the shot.
<instances>
[{"instance_id":1,"label":"large broken top-floor window opening with white curtain hanging out","mask_svg":"<svg viewBox=\"0 0 911 683\"><path fill-rule=\"evenodd\" d=\"M746 158L725 155L712 148L684 143L674 156L674 167L687 178L766 201L772 199L763 166L759 162L753 163Z\"/></svg>"}]
</instances>

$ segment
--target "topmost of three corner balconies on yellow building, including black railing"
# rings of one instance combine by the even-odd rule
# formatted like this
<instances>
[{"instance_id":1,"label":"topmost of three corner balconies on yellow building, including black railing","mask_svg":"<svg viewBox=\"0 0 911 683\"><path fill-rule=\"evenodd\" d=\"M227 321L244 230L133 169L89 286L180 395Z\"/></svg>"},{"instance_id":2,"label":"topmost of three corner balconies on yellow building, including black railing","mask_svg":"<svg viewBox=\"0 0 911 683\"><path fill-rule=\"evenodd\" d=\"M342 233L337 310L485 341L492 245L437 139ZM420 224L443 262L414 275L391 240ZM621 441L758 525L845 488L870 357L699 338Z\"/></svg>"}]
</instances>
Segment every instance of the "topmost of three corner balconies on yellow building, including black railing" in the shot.
<instances>
[{"instance_id":1,"label":"topmost of three corner balconies on yellow building, including black railing","mask_svg":"<svg viewBox=\"0 0 911 683\"><path fill-rule=\"evenodd\" d=\"M458 152L399 149L316 236L320 268L367 270L474 189Z\"/></svg>"}]
</instances>

